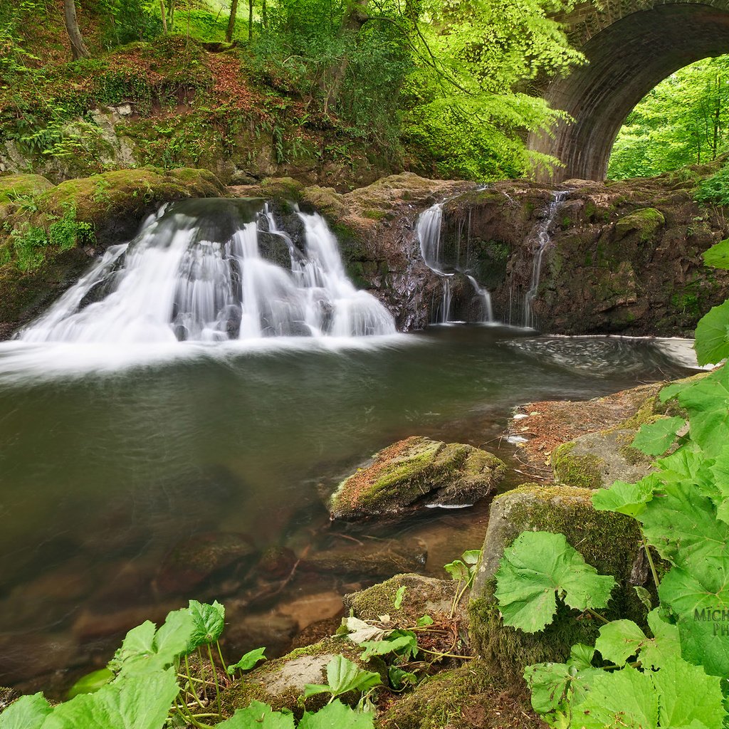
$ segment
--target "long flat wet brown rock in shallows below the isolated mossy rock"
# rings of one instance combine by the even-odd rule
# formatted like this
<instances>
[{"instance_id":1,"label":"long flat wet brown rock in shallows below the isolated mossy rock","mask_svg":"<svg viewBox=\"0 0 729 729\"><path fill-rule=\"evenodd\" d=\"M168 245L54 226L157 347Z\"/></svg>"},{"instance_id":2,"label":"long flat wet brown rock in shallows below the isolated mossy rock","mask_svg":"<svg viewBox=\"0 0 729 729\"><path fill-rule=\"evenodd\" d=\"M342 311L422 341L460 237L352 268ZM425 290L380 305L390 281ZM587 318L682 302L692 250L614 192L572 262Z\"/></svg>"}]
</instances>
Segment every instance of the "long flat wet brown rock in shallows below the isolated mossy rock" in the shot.
<instances>
[{"instance_id":1,"label":"long flat wet brown rock in shallows below the isolated mossy rock","mask_svg":"<svg viewBox=\"0 0 729 729\"><path fill-rule=\"evenodd\" d=\"M315 553L303 559L302 572L336 575L366 574L368 577L390 577L397 572L423 569L428 558L427 547L421 539L386 539L345 545Z\"/></svg>"}]
</instances>

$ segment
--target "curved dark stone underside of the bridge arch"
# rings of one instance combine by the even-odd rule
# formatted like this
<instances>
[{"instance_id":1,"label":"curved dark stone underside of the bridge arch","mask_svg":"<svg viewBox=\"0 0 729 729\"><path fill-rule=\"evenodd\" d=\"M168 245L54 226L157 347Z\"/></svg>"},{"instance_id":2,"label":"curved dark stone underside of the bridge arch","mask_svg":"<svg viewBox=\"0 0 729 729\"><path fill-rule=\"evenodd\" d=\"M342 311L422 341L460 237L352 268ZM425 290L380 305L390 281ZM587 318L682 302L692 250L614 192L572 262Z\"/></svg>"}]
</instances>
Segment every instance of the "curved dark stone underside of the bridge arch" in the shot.
<instances>
[{"instance_id":1,"label":"curved dark stone underside of the bridge arch","mask_svg":"<svg viewBox=\"0 0 729 729\"><path fill-rule=\"evenodd\" d=\"M617 20L581 50L589 63L553 80L545 93L574 122L560 122L553 136L529 139L531 149L564 163L553 174L540 173L542 179L604 179L617 132L644 95L683 66L729 52L729 12L661 5Z\"/></svg>"}]
</instances>

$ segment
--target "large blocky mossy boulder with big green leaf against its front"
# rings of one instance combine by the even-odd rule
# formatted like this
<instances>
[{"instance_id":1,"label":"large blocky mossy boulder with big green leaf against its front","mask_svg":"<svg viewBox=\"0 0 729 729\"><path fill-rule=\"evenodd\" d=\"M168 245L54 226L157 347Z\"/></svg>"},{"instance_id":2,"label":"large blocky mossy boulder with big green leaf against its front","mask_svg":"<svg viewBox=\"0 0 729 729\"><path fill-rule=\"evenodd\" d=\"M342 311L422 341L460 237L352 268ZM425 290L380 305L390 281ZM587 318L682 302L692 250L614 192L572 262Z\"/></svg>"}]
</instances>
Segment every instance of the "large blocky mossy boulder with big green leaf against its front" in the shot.
<instances>
[{"instance_id":1,"label":"large blocky mossy boulder with big green leaf against its front","mask_svg":"<svg viewBox=\"0 0 729 729\"><path fill-rule=\"evenodd\" d=\"M532 663L562 662L573 644L593 644L600 627L596 620L579 616L561 602L553 623L541 633L524 633L502 623L494 598L494 574L504 549L523 531L564 534L599 574L612 575L617 581L608 607L601 613L609 620L624 617L644 623L646 609L634 585L650 585L636 521L622 514L596 511L592 494L587 488L527 483L494 499L469 617L475 650L499 671L521 676L524 666Z\"/></svg>"}]
</instances>

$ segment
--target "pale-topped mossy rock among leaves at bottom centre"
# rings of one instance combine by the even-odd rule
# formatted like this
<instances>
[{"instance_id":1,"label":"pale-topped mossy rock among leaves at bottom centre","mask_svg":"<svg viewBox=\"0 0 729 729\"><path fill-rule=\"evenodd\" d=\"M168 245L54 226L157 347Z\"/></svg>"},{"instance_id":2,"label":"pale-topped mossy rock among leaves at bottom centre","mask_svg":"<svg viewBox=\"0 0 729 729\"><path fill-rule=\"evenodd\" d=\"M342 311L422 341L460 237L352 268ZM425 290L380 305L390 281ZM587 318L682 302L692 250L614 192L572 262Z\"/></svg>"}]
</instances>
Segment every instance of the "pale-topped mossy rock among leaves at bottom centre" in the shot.
<instances>
[{"instance_id":1,"label":"pale-topped mossy rock among leaves at bottom centre","mask_svg":"<svg viewBox=\"0 0 729 729\"><path fill-rule=\"evenodd\" d=\"M245 709L252 701L263 701L274 710L290 709L301 718L304 709L317 711L329 701L329 694L311 696L300 703L307 684L327 683L327 663L337 655L343 655L367 671L381 674L386 683L386 668L379 659L364 663L360 658L362 648L346 636L332 636L303 648L292 650L283 658L269 660L254 671L250 671L225 689L220 701L222 713L231 716L235 709ZM359 691L351 691L338 697L352 706L359 701Z\"/></svg>"}]
</instances>

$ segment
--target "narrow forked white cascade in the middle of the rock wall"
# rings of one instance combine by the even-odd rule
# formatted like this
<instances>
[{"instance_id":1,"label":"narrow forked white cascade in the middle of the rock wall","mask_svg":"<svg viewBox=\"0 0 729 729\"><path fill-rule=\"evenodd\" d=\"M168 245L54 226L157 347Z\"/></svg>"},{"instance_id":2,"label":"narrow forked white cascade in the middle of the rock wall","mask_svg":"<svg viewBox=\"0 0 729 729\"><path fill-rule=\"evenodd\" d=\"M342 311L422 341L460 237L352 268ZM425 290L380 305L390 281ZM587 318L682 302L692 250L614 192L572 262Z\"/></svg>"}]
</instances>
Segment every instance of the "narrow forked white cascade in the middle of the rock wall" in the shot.
<instances>
[{"instance_id":1,"label":"narrow forked white cascade in the middle of the rock wall","mask_svg":"<svg viewBox=\"0 0 729 729\"><path fill-rule=\"evenodd\" d=\"M475 296L482 302L482 316L480 321L494 321L494 311L491 308L491 295L486 289L478 284L476 279L467 271L461 270L461 230L459 230L453 271L445 270L444 252L441 248L440 233L443 226L443 203L436 203L421 213L418 218L417 235L420 242L420 252L426 266L443 278L443 300L440 305L440 324L447 324L451 321L451 310L453 308L453 290L451 278L455 273L463 273L470 282ZM467 254L468 257L468 254ZM449 267L450 268L450 267Z\"/></svg>"}]
</instances>

